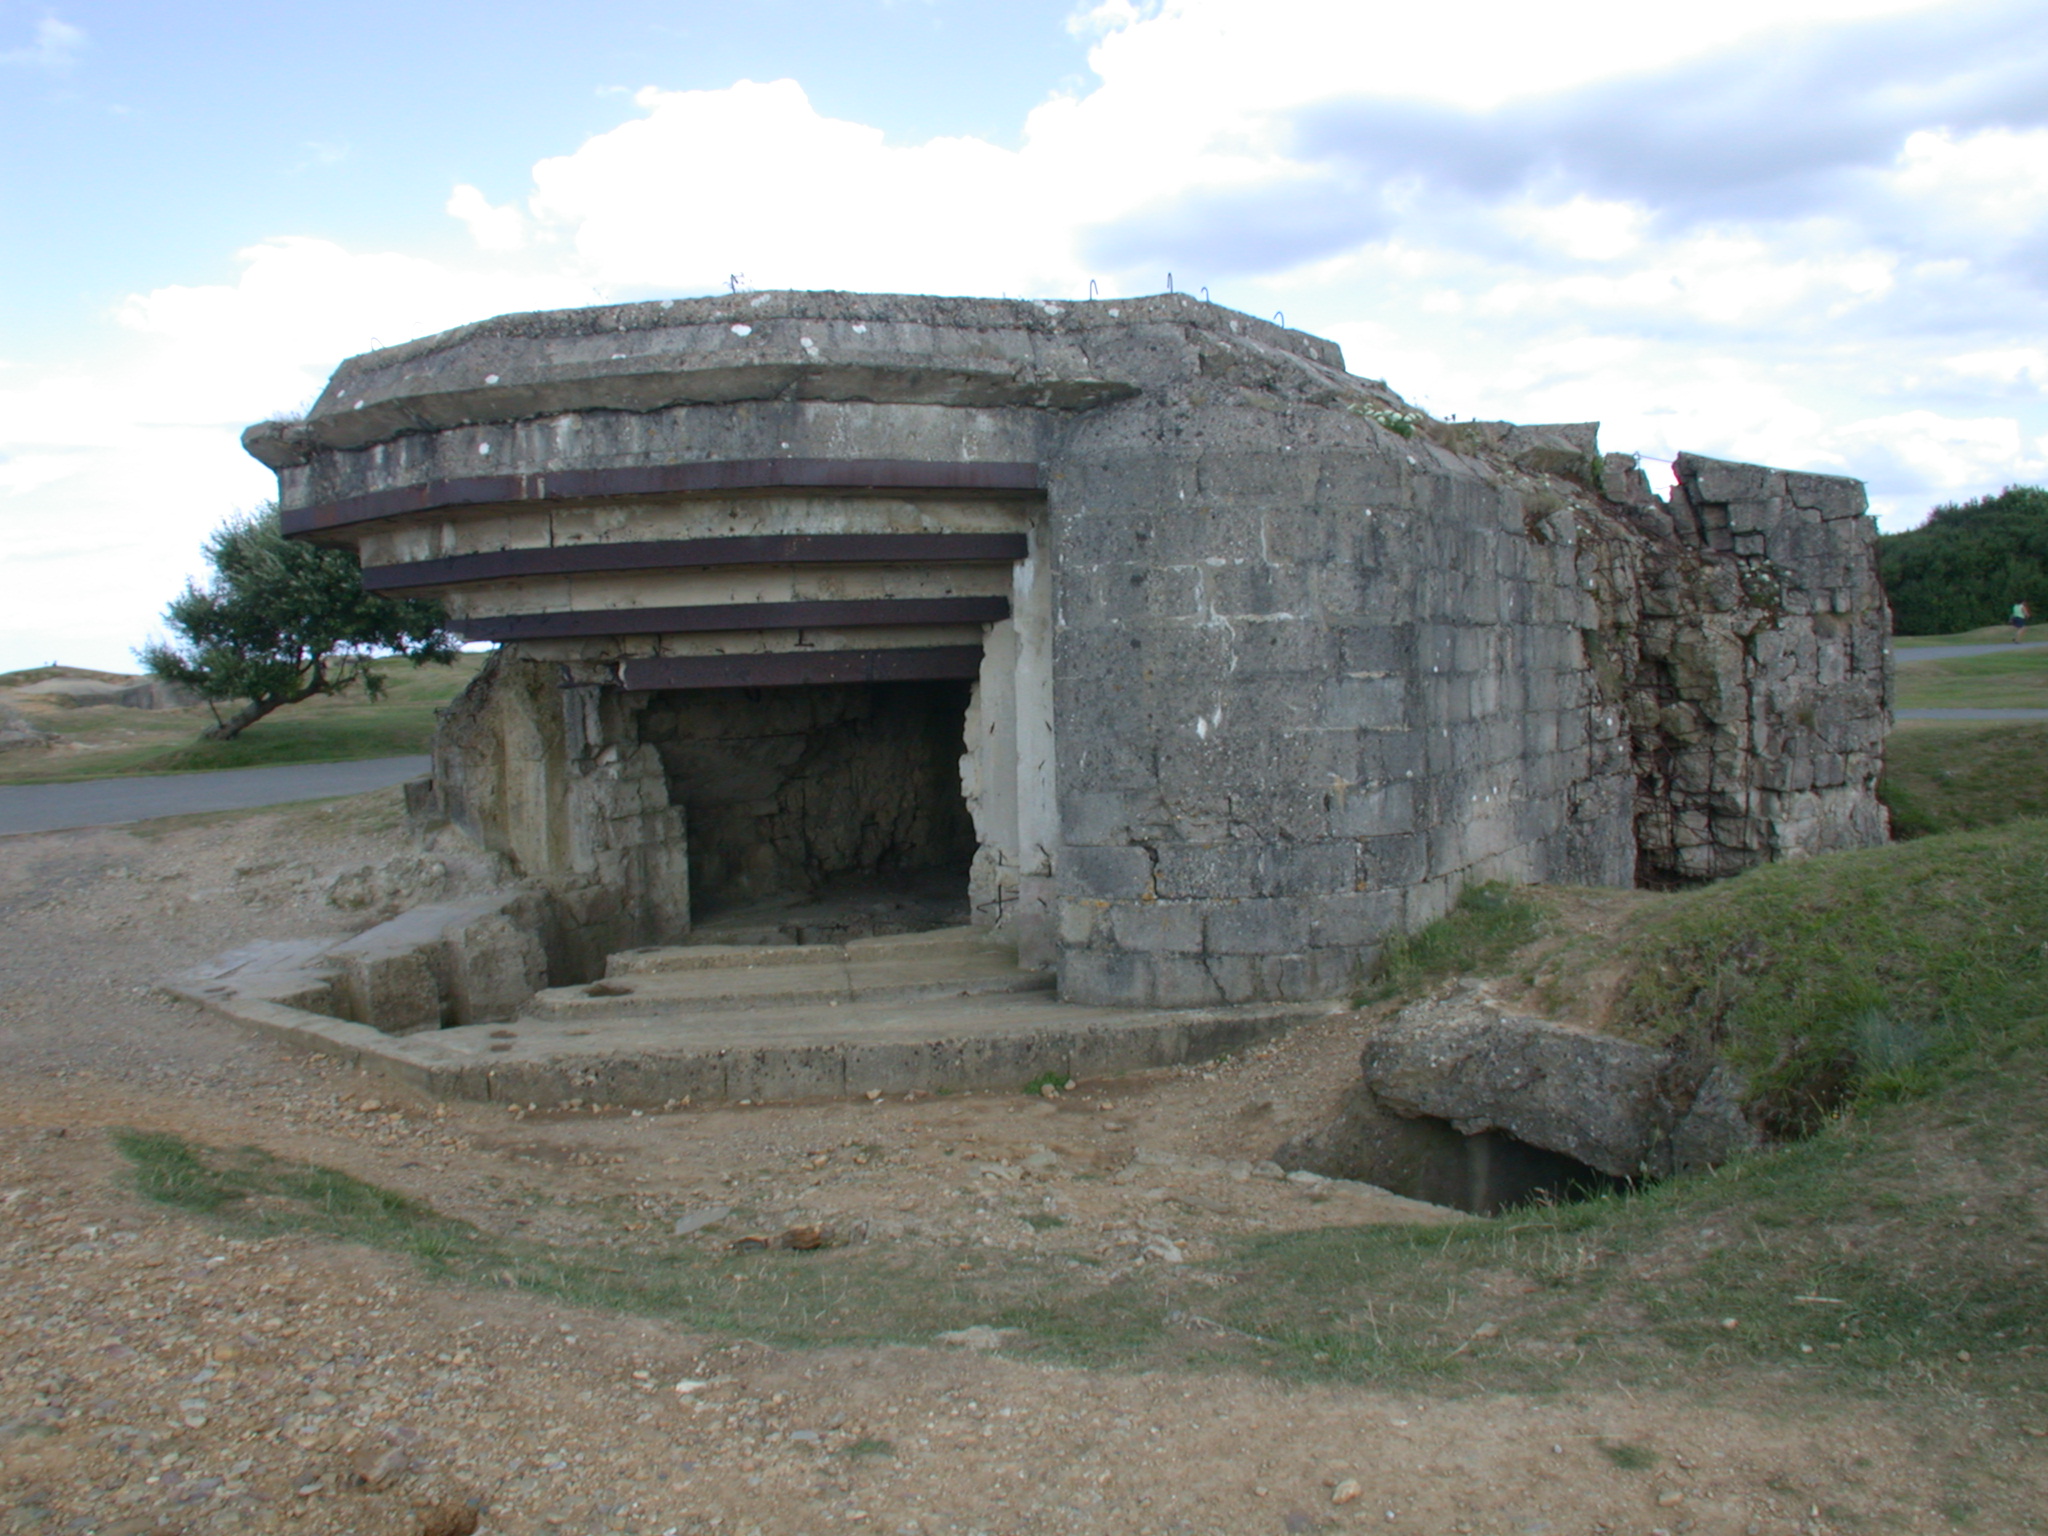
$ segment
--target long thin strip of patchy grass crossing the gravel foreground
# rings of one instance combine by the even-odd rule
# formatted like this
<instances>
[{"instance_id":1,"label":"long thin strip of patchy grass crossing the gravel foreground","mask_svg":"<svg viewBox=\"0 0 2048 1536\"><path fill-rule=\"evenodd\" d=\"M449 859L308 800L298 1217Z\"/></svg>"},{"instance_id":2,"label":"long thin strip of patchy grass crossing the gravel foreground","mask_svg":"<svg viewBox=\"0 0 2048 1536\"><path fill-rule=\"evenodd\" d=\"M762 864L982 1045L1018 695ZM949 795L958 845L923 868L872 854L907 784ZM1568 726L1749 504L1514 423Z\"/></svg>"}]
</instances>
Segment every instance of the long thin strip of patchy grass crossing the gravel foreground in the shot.
<instances>
[{"instance_id":1,"label":"long thin strip of patchy grass crossing the gravel foreground","mask_svg":"<svg viewBox=\"0 0 2048 1536\"><path fill-rule=\"evenodd\" d=\"M1135 1274L918 1243L735 1255L594 1233L543 1247L334 1169L162 1135L119 1145L145 1194L240 1231L371 1243L424 1278L778 1348L989 1323L1022 1329L1018 1354L1085 1366L1518 1393L1761 1378L1896 1395L1966 1376L2038 1415L2048 1116L2042 1057L2015 1065L2028 1071L1962 1075L1636 1194L1253 1237L1212 1266Z\"/></svg>"}]
</instances>

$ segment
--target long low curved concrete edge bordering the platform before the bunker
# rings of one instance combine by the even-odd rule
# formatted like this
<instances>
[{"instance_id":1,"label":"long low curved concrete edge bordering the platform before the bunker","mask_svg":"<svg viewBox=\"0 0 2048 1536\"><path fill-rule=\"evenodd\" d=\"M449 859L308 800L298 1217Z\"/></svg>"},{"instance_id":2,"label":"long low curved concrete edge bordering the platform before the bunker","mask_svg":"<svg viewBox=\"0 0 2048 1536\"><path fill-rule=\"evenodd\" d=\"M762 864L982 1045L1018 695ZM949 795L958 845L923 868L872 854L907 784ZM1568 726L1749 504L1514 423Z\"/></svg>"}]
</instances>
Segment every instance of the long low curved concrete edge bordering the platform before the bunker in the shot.
<instances>
[{"instance_id":1,"label":"long low curved concrete edge bordering the platform before the bunker","mask_svg":"<svg viewBox=\"0 0 2048 1536\"><path fill-rule=\"evenodd\" d=\"M426 1098L561 1108L569 1100L618 1108L840 1100L907 1092L1018 1092L1057 1071L1077 1081L1159 1071L1262 1044L1343 1004L1223 1008L1157 1014L1137 1022L1026 1028L987 1036L889 1042L709 1047L692 1051L563 1051L489 1063L451 1051L432 1034L393 1036L348 1020L254 997L217 997L190 983L166 987L215 1018L301 1055L332 1057Z\"/></svg>"}]
</instances>

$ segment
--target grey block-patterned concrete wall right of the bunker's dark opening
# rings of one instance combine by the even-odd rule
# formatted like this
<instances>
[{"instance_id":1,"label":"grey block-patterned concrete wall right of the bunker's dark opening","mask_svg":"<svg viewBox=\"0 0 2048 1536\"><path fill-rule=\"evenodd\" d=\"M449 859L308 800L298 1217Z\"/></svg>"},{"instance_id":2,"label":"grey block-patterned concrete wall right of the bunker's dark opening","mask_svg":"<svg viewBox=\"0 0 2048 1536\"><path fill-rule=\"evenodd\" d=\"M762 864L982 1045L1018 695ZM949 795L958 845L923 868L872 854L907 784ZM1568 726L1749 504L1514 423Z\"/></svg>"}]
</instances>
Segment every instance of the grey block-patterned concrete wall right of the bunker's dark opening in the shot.
<instances>
[{"instance_id":1,"label":"grey block-patterned concrete wall right of the bunker's dark opening","mask_svg":"<svg viewBox=\"0 0 2048 1536\"><path fill-rule=\"evenodd\" d=\"M1569 520L1348 410L1128 401L1061 463L1063 995L1333 995L1468 879L1630 881Z\"/></svg>"}]
</instances>

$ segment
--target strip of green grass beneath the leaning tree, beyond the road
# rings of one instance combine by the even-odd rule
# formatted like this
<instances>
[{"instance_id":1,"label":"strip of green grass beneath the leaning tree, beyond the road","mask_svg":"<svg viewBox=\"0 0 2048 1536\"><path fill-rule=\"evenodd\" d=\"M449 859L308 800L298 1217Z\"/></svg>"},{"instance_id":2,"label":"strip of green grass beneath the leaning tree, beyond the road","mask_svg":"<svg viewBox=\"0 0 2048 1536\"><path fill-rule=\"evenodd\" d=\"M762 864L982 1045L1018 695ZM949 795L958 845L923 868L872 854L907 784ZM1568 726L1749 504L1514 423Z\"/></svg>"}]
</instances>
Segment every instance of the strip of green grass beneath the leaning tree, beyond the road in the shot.
<instances>
[{"instance_id":1,"label":"strip of green grass beneath the leaning tree, beyond the road","mask_svg":"<svg viewBox=\"0 0 2048 1536\"><path fill-rule=\"evenodd\" d=\"M0 758L0 782L49 784L129 774L193 774L215 768L270 768L291 762L352 762L426 752L434 713L481 670L481 655L453 666L395 664L381 700L360 694L309 698L248 727L233 741L201 737L213 723L195 709L37 709L33 719L76 748L10 752Z\"/></svg>"}]
</instances>

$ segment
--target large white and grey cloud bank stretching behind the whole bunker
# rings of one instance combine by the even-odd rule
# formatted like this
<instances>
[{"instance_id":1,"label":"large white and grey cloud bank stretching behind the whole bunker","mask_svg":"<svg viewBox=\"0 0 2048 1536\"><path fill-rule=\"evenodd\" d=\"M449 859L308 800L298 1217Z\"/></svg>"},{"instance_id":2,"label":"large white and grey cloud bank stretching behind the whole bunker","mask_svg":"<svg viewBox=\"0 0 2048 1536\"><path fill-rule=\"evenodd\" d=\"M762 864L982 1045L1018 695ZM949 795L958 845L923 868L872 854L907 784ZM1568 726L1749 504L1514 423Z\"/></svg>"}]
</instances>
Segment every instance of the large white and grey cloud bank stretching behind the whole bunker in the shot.
<instances>
[{"instance_id":1,"label":"large white and grey cloud bank stretching behind the whole bunker","mask_svg":"<svg viewBox=\"0 0 2048 1536\"><path fill-rule=\"evenodd\" d=\"M119 664L266 494L240 426L348 352L737 272L1081 297L1171 270L1440 414L1866 475L1894 520L2048 473L2048 25L2013 0L1485 0L1458 27L1106 0L1075 29L1100 80L1018 147L889 143L795 80L647 88L526 197L453 186L467 260L281 236L233 283L135 295L117 362L0 373L8 559L51 578L0 645Z\"/></svg>"}]
</instances>

